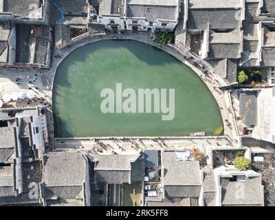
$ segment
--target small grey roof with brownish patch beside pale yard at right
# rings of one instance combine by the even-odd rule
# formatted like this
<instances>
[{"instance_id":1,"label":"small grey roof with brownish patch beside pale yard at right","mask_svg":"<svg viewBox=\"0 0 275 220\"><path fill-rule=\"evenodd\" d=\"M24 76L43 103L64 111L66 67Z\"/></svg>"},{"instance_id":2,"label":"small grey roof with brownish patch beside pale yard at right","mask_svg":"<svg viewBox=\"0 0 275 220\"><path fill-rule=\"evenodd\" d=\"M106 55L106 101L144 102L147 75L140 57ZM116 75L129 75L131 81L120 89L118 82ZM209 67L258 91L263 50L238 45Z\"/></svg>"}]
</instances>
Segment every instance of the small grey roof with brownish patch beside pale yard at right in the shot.
<instances>
[{"instance_id":1,"label":"small grey roof with brownish patch beside pale yard at right","mask_svg":"<svg viewBox=\"0 0 275 220\"><path fill-rule=\"evenodd\" d=\"M243 122L248 125L257 124L257 92L246 91L240 94L240 115Z\"/></svg>"}]
</instances>

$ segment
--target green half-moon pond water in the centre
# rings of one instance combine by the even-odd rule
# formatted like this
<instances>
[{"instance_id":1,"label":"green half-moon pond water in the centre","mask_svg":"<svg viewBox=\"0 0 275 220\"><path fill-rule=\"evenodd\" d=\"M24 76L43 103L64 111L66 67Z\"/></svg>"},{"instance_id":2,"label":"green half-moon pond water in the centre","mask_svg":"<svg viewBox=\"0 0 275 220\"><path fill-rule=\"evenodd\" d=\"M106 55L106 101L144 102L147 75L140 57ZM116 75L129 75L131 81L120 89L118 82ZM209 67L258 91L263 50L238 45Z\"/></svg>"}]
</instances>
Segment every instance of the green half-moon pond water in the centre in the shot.
<instances>
[{"instance_id":1,"label":"green half-moon pond water in the centre","mask_svg":"<svg viewBox=\"0 0 275 220\"><path fill-rule=\"evenodd\" d=\"M162 120L162 112L102 113L100 93L115 92L116 83L135 91L167 89L167 96L175 89L175 118ZM56 137L212 135L223 124L217 102L195 72L137 41L100 41L69 54L56 72L53 108Z\"/></svg>"}]
</instances>

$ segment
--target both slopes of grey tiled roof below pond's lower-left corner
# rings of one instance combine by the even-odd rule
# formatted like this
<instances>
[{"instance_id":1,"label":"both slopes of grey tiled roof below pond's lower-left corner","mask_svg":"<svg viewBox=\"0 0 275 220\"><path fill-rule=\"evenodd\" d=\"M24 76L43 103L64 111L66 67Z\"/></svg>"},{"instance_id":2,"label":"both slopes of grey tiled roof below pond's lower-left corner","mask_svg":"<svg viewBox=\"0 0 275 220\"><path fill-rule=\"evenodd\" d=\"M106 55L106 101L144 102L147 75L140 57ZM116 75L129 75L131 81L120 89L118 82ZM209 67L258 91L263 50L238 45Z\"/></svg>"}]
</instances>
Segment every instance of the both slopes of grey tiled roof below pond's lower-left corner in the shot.
<instances>
[{"instance_id":1,"label":"both slopes of grey tiled roof below pond's lower-left corner","mask_svg":"<svg viewBox=\"0 0 275 220\"><path fill-rule=\"evenodd\" d=\"M83 199L87 163L81 153L48 153L43 158L44 199Z\"/></svg>"}]
</instances>

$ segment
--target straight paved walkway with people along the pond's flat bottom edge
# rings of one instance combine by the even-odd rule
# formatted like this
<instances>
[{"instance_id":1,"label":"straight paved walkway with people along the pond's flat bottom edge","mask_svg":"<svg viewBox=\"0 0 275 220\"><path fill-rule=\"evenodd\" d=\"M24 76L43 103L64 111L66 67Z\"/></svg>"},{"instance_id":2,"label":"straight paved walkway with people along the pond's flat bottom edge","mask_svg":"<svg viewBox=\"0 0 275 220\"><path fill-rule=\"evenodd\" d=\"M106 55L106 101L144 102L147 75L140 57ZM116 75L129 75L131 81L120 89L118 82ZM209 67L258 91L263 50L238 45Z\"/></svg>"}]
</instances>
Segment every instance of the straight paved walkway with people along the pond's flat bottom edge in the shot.
<instances>
[{"instance_id":1,"label":"straight paved walkway with people along the pond's flat bottom edge","mask_svg":"<svg viewBox=\"0 0 275 220\"><path fill-rule=\"evenodd\" d=\"M206 146L214 148L231 149L232 144L224 136L221 137L118 137L110 139L107 137L98 137L90 139L83 138L56 138L56 148L62 151L89 151L94 148L102 154L134 154L140 149L170 149L170 150L191 150L198 148L206 153Z\"/></svg>"}]
</instances>

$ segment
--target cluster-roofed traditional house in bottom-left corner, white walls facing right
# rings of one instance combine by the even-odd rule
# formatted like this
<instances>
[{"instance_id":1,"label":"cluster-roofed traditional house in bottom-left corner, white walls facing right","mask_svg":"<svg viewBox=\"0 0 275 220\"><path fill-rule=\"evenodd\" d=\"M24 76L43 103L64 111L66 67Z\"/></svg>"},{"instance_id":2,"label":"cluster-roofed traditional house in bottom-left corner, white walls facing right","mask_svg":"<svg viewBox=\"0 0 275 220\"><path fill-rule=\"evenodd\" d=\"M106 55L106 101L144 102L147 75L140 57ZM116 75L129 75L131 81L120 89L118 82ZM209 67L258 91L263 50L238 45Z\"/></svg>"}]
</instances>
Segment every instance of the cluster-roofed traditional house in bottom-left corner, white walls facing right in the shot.
<instances>
[{"instance_id":1,"label":"cluster-roofed traditional house in bottom-left corner, white walls facing right","mask_svg":"<svg viewBox=\"0 0 275 220\"><path fill-rule=\"evenodd\" d=\"M0 205L41 203L39 183L45 146L36 110L21 111L13 118L1 113Z\"/></svg>"}]
</instances>

